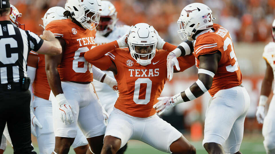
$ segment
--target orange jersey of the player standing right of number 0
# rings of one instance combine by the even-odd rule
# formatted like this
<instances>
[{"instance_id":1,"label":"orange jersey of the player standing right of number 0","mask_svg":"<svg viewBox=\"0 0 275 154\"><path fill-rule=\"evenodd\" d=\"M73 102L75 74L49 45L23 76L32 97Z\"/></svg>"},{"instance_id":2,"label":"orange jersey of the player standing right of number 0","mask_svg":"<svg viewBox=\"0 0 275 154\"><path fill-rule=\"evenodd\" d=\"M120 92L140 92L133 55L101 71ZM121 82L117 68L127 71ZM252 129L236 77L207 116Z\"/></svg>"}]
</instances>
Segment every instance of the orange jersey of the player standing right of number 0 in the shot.
<instances>
[{"instance_id":1,"label":"orange jersey of the player standing right of number 0","mask_svg":"<svg viewBox=\"0 0 275 154\"><path fill-rule=\"evenodd\" d=\"M213 25L214 32L199 35L194 44L196 66L199 68L199 56L221 52L217 72L209 90L213 97L219 90L239 86L242 74L237 62L234 46L229 32L218 24Z\"/></svg>"}]
</instances>

